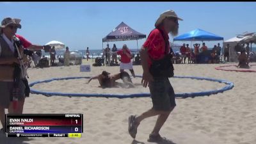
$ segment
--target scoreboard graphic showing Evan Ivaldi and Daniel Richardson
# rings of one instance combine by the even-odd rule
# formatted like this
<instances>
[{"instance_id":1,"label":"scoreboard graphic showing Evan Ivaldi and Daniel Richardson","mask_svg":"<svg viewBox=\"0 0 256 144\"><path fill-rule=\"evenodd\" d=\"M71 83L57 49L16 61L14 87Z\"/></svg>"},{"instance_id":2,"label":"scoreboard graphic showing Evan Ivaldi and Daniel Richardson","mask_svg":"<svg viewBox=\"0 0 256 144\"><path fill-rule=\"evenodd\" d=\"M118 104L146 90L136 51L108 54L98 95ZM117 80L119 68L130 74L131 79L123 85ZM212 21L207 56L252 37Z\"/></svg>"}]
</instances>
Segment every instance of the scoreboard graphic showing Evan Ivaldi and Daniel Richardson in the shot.
<instances>
[{"instance_id":1,"label":"scoreboard graphic showing Evan Ivaldi and Daniel Richardson","mask_svg":"<svg viewBox=\"0 0 256 144\"><path fill-rule=\"evenodd\" d=\"M81 138L83 114L5 115L7 137Z\"/></svg>"}]
</instances>

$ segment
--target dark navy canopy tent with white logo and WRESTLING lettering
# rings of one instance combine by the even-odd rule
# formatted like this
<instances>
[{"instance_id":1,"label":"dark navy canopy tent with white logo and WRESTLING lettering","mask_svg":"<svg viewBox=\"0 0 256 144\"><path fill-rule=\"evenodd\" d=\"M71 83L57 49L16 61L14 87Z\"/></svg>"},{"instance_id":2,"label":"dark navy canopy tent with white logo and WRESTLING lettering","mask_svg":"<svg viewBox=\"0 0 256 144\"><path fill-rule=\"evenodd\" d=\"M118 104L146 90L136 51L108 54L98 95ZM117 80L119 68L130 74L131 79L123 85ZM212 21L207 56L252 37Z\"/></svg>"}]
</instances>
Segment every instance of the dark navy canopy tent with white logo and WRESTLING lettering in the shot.
<instances>
[{"instance_id":1,"label":"dark navy canopy tent with white logo and WRESTLING lettering","mask_svg":"<svg viewBox=\"0 0 256 144\"><path fill-rule=\"evenodd\" d=\"M124 22L121 22L111 33L102 38L102 50L104 42L115 42L115 41L124 41L124 40L136 40L137 41L137 49L138 48L138 40L146 38L146 35L135 31L131 27L127 26Z\"/></svg>"}]
</instances>

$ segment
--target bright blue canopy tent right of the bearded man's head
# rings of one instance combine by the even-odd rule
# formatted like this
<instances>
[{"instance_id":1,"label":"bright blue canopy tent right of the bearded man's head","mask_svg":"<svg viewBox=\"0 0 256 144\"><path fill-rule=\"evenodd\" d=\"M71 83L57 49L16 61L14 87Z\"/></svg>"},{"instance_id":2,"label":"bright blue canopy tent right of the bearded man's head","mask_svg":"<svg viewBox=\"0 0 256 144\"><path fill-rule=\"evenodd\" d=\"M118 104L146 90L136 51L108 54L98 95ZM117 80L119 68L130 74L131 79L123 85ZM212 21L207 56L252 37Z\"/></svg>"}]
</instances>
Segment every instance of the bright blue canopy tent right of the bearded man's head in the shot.
<instances>
[{"instance_id":1,"label":"bright blue canopy tent right of the bearded man's head","mask_svg":"<svg viewBox=\"0 0 256 144\"><path fill-rule=\"evenodd\" d=\"M204 31L202 29L195 29L193 31L189 31L188 33L184 33L183 35L173 38L173 42L174 41L190 41L191 47L192 47L192 42L195 42L195 41L202 41L203 43L204 41L218 41L218 40L223 41L223 37L215 35L208 31Z\"/></svg>"}]
</instances>

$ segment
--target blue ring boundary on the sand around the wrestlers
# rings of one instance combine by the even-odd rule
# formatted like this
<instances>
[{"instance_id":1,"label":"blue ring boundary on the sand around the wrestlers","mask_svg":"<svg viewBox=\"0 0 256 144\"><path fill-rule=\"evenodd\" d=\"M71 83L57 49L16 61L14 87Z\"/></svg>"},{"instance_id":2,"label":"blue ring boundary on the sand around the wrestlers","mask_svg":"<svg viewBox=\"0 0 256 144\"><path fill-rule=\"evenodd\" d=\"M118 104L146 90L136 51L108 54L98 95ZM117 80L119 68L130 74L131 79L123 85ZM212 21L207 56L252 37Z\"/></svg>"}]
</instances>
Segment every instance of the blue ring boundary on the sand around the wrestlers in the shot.
<instances>
[{"instance_id":1,"label":"blue ring boundary on the sand around the wrestlers","mask_svg":"<svg viewBox=\"0 0 256 144\"><path fill-rule=\"evenodd\" d=\"M136 77L142 77L142 76L136 76ZM182 79L198 79L198 80L206 80L206 81L214 81L218 83L225 83L226 86L223 88L220 88L218 90L209 90L209 91L202 91L202 92L194 92L194 93L175 93L175 97L202 97L205 95L212 95L217 93L223 93L227 90L231 90L234 87L234 83L225 81L222 79L213 79L209 77L192 77L192 76L173 76L175 78L182 78ZM30 83L29 86L32 87L35 84L38 83L49 83L51 81L59 81L59 80L67 80L67 79L89 79L90 77L61 77L61 78L52 78L52 79L46 79L43 81L35 81L33 83ZM66 97L106 97L106 98L133 98L133 97L150 97L150 93L132 93L132 94L111 94L111 93L60 93L60 92L43 92L40 90L35 90L31 88L31 93L34 94L41 94L45 96L66 96Z\"/></svg>"}]
</instances>

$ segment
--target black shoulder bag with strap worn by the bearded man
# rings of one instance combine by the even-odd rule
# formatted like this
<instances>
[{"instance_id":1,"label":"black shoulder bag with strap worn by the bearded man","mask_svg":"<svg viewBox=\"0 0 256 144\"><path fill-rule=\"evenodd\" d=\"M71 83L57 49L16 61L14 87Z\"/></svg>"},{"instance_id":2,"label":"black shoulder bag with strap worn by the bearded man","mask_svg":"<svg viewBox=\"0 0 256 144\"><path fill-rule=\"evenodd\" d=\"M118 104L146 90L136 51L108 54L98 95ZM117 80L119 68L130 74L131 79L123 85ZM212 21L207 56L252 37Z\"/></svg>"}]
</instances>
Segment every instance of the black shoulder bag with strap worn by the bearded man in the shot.
<instances>
[{"instance_id":1,"label":"black shoulder bag with strap worn by the bearded man","mask_svg":"<svg viewBox=\"0 0 256 144\"><path fill-rule=\"evenodd\" d=\"M150 60L152 61L152 65L149 68L149 72L150 74L152 74L153 77L173 77L174 68L172 65L172 54L170 52L168 53L169 41L166 40L165 36L163 35L164 34L163 31L161 29L159 29L159 31L161 32L165 41L165 52L164 52L165 55L160 60L153 60L152 58L150 58ZM171 48L171 51L172 51L172 48Z\"/></svg>"}]
</instances>

